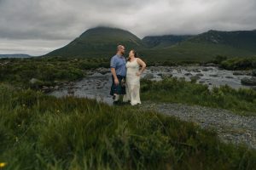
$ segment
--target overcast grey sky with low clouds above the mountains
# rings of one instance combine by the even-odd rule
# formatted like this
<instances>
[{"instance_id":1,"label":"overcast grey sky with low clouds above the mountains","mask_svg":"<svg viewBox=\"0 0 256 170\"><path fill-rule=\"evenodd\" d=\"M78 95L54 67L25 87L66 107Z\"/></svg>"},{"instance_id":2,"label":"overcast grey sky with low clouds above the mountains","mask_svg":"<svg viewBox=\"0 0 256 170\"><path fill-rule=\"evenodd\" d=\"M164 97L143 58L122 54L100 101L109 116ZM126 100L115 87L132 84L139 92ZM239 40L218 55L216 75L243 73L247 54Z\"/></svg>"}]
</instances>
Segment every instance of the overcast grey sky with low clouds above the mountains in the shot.
<instances>
[{"instance_id":1,"label":"overcast grey sky with low clouds above the mountains","mask_svg":"<svg viewBox=\"0 0 256 170\"><path fill-rule=\"evenodd\" d=\"M84 31L137 37L256 29L256 0L0 0L0 54L46 54Z\"/></svg>"}]
</instances>

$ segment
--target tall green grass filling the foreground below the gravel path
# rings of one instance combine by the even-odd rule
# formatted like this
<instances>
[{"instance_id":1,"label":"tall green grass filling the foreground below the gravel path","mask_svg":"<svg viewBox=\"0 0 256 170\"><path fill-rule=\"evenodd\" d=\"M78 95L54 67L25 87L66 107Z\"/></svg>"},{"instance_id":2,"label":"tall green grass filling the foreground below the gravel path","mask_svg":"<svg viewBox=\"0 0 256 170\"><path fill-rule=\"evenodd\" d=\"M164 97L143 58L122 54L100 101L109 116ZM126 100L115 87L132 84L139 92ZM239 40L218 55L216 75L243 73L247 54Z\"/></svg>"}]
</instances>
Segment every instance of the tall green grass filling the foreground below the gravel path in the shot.
<instances>
[{"instance_id":1,"label":"tall green grass filling the foreground below the gravel path","mask_svg":"<svg viewBox=\"0 0 256 170\"><path fill-rule=\"evenodd\" d=\"M0 86L4 169L253 169L256 151L190 122Z\"/></svg>"}]
</instances>

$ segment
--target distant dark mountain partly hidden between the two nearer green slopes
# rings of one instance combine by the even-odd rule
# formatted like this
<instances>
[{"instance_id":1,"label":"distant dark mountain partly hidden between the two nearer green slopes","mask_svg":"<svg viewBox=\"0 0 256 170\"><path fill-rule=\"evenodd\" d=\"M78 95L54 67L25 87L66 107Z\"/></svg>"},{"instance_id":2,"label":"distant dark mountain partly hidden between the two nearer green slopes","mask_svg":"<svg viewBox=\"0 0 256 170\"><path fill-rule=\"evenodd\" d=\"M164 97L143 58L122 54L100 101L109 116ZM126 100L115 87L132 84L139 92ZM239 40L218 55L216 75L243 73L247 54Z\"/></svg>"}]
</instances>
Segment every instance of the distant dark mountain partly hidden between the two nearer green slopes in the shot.
<instances>
[{"instance_id":1,"label":"distant dark mountain partly hidden between the two nearer green slopes","mask_svg":"<svg viewBox=\"0 0 256 170\"><path fill-rule=\"evenodd\" d=\"M178 42L183 42L193 36L175 36L175 35L165 35L165 36L147 36L143 37L143 42L148 46L148 48L166 48L177 44Z\"/></svg>"}]
</instances>

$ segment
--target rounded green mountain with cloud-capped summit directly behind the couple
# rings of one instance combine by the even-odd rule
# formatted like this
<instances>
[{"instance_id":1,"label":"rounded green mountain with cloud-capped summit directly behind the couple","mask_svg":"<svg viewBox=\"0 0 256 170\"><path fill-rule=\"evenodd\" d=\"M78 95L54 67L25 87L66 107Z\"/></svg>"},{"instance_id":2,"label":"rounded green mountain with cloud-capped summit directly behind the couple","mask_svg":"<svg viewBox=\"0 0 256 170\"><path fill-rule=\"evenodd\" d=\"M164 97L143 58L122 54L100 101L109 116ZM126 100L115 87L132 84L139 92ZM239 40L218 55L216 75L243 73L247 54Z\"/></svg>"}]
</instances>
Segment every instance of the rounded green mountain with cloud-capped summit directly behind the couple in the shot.
<instances>
[{"instance_id":1,"label":"rounded green mountain with cloud-capped summit directly behind the couple","mask_svg":"<svg viewBox=\"0 0 256 170\"><path fill-rule=\"evenodd\" d=\"M109 57L115 54L119 44L124 44L126 49L144 48L142 40L129 31L96 27L84 31L73 42L46 54L46 56Z\"/></svg>"}]
</instances>

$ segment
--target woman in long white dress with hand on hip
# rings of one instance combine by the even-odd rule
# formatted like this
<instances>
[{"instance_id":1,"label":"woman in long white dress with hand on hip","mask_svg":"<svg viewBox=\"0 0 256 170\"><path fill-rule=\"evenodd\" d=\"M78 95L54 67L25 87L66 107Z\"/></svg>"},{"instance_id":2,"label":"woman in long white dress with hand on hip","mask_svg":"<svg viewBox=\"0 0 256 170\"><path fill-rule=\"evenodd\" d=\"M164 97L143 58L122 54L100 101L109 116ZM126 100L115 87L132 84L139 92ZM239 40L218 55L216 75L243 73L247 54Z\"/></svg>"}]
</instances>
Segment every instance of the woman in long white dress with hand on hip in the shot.
<instances>
[{"instance_id":1,"label":"woman in long white dress with hand on hip","mask_svg":"<svg viewBox=\"0 0 256 170\"><path fill-rule=\"evenodd\" d=\"M141 69L140 69L141 68ZM123 101L131 101L131 105L142 104L140 99L140 76L146 68L142 59L137 58L137 53L132 49L126 63L126 94Z\"/></svg>"}]
</instances>

